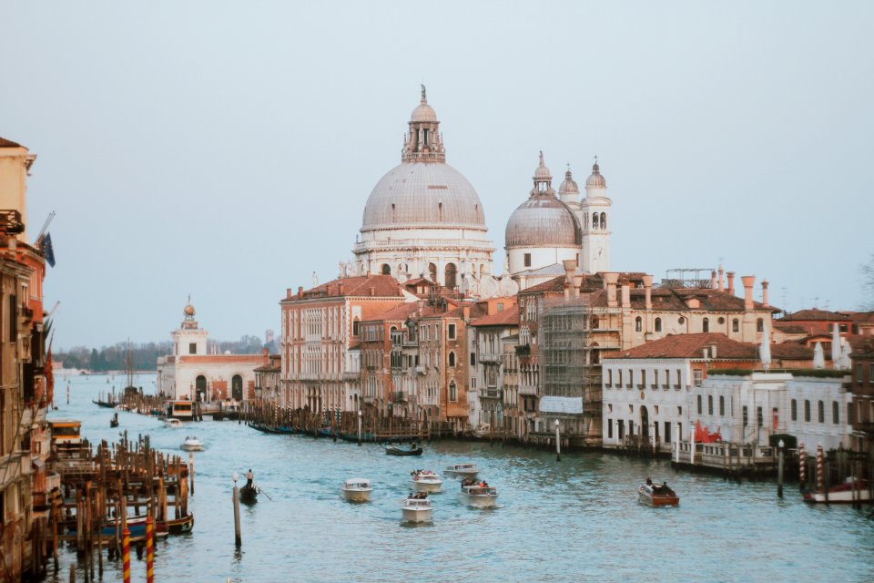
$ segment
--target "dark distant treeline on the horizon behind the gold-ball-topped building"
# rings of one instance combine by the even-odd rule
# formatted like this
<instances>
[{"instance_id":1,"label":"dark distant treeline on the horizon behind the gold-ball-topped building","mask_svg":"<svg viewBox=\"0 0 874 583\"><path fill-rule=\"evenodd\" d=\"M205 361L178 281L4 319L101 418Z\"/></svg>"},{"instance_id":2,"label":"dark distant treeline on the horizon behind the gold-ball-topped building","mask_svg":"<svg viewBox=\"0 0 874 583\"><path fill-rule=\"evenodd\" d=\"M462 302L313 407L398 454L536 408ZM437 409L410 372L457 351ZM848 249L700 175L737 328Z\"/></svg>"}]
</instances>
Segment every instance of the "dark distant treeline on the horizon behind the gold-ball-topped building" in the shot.
<instances>
[{"instance_id":1,"label":"dark distant treeline on the horizon behind the gold-ball-topped building","mask_svg":"<svg viewBox=\"0 0 874 583\"><path fill-rule=\"evenodd\" d=\"M265 348L258 336L243 336L238 341L209 341L208 353L259 354ZM276 346L268 346L270 352L276 352ZM158 356L172 353L173 344L142 343L130 344L130 354L133 358L134 370L153 371L158 362ZM66 352L52 354L56 363L64 363L64 368L79 368L93 372L127 370L127 343L116 343L100 349L86 346L74 346Z\"/></svg>"}]
</instances>

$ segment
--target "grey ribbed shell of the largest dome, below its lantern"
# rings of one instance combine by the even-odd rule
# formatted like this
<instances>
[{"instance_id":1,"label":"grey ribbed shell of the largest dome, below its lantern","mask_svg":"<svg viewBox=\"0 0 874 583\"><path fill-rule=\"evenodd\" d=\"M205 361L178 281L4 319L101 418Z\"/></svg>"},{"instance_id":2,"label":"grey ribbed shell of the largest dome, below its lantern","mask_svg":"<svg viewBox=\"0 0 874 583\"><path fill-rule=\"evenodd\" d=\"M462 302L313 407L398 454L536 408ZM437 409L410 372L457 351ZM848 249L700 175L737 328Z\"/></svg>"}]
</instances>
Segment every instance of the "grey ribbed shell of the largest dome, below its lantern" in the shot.
<instances>
[{"instance_id":1,"label":"grey ribbed shell of the largest dome, below its lantern","mask_svg":"<svg viewBox=\"0 0 874 583\"><path fill-rule=\"evenodd\" d=\"M445 162L404 162L373 188L361 231L409 227L484 231L483 203L461 172Z\"/></svg>"}]
</instances>

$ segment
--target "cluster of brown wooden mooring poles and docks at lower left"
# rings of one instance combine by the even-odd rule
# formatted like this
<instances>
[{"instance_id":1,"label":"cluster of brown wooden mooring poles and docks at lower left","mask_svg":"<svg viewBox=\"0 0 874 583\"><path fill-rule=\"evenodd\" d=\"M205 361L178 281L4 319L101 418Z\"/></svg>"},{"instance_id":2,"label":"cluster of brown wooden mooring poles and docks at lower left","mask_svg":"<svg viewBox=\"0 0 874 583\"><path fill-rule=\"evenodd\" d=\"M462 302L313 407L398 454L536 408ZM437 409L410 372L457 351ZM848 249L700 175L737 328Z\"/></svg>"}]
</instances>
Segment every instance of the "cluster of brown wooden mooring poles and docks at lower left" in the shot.
<instances>
[{"instance_id":1,"label":"cluster of brown wooden mooring poles and docks at lower left","mask_svg":"<svg viewBox=\"0 0 874 583\"><path fill-rule=\"evenodd\" d=\"M61 490L52 498L56 570L57 544L68 541L84 563L86 581L94 580L96 563L102 578L104 547L107 559L125 558L127 581L131 538L138 553L143 544L150 551L158 528L167 533L168 524L189 517L188 496L194 496L193 455L186 464L178 455L158 452L150 447L147 435L130 442L125 432L120 443L110 446L104 441L93 454L84 442L78 452L58 455L54 465L61 477ZM131 509L133 516L128 516ZM142 510L147 516L146 529L140 518L137 535L132 537L128 522ZM147 570L151 573L150 562ZM71 580L72 574L71 570Z\"/></svg>"}]
</instances>

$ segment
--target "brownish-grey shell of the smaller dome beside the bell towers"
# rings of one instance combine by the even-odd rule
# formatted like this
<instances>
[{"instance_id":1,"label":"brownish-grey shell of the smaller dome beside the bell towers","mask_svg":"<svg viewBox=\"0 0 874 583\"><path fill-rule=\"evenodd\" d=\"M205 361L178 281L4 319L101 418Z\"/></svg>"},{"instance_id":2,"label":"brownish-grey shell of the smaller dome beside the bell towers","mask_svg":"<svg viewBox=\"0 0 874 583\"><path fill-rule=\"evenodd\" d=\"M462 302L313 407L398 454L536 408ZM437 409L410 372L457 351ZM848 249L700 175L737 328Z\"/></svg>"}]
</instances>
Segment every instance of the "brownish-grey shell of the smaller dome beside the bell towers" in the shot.
<instances>
[{"instance_id":1,"label":"brownish-grey shell of the smaller dome beside the bell towers","mask_svg":"<svg viewBox=\"0 0 874 583\"><path fill-rule=\"evenodd\" d=\"M583 233L564 202L552 195L525 200L507 221L505 245L511 247L579 247Z\"/></svg>"}]
</instances>

